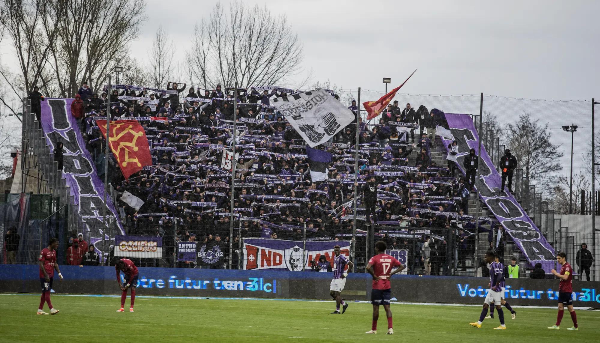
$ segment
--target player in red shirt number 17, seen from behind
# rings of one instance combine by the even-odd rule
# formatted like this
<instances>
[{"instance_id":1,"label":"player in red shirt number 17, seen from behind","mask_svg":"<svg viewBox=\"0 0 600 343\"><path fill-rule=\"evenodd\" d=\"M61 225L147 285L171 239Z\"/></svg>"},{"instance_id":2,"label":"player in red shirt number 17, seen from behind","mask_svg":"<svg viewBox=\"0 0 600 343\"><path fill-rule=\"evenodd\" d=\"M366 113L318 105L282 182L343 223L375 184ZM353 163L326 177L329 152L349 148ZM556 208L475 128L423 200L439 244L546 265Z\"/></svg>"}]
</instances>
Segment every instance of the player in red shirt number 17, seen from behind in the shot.
<instances>
[{"instance_id":1,"label":"player in red shirt number 17, seen from behind","mask_svg":"<svg viewBox=\"0 0 600 343\"><path fill-rule=\"evenodd\" d=\"M390 276L401 272L404 266L400 261L385 253L388 245L380 240L375 243L375 255L367 264L367 272L373 276L371 290L371 303L373 304L373 326L365 333L377 333L377 320L379 319L379 305L383 303L385 315L388 317L388 335L394 334L392 328L392 310L389 308L389 300L392 299L392 286L389 282ZM392 268L398 267L392 272Z\"/></svg>"}]
</instances>

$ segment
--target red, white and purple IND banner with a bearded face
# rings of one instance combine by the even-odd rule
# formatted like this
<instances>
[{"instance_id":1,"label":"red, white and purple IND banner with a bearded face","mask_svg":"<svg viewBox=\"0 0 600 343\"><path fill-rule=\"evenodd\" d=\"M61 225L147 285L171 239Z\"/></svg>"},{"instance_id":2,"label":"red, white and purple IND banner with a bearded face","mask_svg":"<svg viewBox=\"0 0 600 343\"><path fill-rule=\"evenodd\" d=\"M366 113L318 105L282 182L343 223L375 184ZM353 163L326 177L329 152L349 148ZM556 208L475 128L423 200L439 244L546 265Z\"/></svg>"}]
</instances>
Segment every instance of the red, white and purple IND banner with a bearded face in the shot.
<instances>
[{"instance_id":1,"label":"red, white and purple IND banner with a bearded face","mask_svg":"<svg viewBox=\"0 0 600 343\"><path fill-rule=\"evenodd\" d=\"M336 245L340 246L342 255L350 257L350 242L346 240L310 241L304 249L301 240L247 238L244 239L244 269L310 270L310 261L319 260L321 255L333 263Z\"/></svg>"}]
</instances>

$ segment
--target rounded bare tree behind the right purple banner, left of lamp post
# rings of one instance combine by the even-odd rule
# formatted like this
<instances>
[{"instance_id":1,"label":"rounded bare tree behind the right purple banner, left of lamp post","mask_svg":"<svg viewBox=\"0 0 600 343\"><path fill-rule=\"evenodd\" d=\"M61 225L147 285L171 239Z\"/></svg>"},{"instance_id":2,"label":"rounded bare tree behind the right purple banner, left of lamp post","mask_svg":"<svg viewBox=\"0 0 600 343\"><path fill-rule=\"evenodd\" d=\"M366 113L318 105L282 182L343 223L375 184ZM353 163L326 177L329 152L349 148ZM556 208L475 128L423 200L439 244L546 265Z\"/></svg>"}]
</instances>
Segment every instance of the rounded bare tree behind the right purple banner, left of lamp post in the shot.
<instances>
[{"instance_id":1,"label":"rounded bare tree behind the right purple banner, left of lamp post","mask_svg":"<svg viewBox=\"0 0 600 343\"><path fill-rule=\"evenodd\" d=\"M550 141L548 124L538 122L532 121L529 113L523 112L517 122L508 124L506 145L518 158L518 167L523 169L529 184L536 182L549 191L556 172L562 170L559 161L563 153L559 151L560 146Z\"/></svg>"}]
</instances>

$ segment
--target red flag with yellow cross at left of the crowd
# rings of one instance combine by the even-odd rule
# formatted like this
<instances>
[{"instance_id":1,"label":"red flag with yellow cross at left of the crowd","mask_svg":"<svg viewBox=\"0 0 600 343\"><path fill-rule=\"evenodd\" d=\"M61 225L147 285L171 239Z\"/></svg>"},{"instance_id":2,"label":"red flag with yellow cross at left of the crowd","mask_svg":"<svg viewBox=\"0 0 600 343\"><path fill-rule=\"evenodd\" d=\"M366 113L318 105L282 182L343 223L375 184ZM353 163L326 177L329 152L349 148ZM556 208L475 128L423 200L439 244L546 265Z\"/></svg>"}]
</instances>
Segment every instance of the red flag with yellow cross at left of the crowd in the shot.
<instances>
[{"instance_id":1,"label":"red flag with yellow cross at left of the crowd","mask_svg":"<svg viewBox=\"0 0 600 343\"><path fill-rule=\"evenodd\" d=\"M106 121L96 121L106 138ZM138 121L110 122L110 150L115 155L125 179L152 165L152 155L144 128Z\"/></svg>"}]
</instances>

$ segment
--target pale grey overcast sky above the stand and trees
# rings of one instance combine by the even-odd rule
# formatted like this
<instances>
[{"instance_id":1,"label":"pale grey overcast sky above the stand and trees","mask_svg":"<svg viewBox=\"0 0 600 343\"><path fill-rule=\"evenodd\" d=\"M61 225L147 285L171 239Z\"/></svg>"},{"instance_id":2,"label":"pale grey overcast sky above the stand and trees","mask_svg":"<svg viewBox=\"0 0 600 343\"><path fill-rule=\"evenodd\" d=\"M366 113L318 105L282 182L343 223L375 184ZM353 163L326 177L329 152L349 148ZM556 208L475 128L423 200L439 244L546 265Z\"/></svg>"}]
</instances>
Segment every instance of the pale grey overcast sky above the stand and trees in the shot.
<instances>
[{"instance_id":1,"label":"pale grey overcast sky above the stand and trees","mask_svg":"<svg viewBox=\"0 0 600 343\"><path fill-rule=\"evenodd\" d=\"M133 51L140 59L158 23L185 46L194 23L217 3L147 2L148 21ZM304 44L302 67L345 89L383 91L382 77L400 85L417 69L404 91L600 97L597 1L247 2L286 16Z\"/></svg>"}]
</instances>

